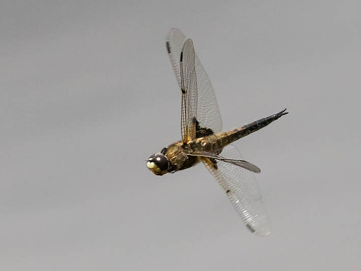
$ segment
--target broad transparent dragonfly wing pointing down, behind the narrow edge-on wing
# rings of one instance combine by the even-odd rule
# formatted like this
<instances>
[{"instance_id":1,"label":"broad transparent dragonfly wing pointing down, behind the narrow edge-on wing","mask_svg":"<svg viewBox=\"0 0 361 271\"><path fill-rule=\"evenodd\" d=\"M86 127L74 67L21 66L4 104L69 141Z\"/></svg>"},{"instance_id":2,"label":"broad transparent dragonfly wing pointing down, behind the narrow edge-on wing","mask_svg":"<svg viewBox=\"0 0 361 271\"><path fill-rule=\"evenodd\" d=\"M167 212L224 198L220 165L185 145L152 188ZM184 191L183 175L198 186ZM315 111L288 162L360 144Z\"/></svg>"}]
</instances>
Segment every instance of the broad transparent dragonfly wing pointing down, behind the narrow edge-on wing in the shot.
<instances>
[{"instance_id":1,"label":"broad transparent dragonfly wing pointing down, behind the narrow edge-on wing","mask_svg":"<svg viewBox=\"0 0 361 271\"><path fill-rule=\"evenodd\" d=\"M220 155L242 160L239 150L232 144L225 146ZM232 163L206 157L201 159L224 189L247 228L258 235L268 235L270 227L253 173Z\"/></svg>"}]
</instances>

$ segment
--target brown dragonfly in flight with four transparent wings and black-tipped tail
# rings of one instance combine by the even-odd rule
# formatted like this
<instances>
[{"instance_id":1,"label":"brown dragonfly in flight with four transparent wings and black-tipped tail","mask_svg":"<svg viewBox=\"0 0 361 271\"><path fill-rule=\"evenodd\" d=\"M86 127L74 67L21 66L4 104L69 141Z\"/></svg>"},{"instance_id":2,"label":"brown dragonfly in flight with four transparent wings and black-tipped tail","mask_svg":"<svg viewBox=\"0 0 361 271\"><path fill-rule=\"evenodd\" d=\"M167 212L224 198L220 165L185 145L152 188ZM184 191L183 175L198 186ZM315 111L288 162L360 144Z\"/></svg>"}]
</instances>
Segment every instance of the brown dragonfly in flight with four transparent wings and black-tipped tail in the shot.
<instances>
[{"instance_id":1,"label":"brown dragonfly in flight with four transparent wings and black-tipped tail","mask_svg":"<svg viewBox=\"0 0 361 271\"><path fill-rule=\"evenodd\" d=\"M246 227L268 235L270 226L254 174L260 169L243 160L232 142L266 127L286 109L222 132L222 119L211 81L194 52L191 39L172 28L166 48L181 92L181 137L147 160L155 175L175 173L202 162L232 202Z\"/></svg>"}]
</instances>

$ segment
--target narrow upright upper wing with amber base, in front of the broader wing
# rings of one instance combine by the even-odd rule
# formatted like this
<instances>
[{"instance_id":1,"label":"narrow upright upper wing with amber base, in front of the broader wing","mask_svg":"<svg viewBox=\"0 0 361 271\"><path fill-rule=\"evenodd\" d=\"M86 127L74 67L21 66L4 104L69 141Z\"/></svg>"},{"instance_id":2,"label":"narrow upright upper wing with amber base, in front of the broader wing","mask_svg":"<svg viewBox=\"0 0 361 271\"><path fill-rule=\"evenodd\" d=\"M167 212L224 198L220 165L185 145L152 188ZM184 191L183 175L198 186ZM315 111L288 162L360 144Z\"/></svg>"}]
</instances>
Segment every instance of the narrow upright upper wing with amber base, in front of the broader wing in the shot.
<instances>
[{"instance_id":1,"label":"narrow upright upper wing with amber base, in front of the broader wing","mask_svg":"<svg viewBox=\"0 0 361 271\"><path fill-rule=\"evenodd\" d=\"M197 78L194 68L194 47L191 39L185 41L180 54L182 92L181 134L183 142L195 138L197 115Z\"/></svg>"}]
</instances>

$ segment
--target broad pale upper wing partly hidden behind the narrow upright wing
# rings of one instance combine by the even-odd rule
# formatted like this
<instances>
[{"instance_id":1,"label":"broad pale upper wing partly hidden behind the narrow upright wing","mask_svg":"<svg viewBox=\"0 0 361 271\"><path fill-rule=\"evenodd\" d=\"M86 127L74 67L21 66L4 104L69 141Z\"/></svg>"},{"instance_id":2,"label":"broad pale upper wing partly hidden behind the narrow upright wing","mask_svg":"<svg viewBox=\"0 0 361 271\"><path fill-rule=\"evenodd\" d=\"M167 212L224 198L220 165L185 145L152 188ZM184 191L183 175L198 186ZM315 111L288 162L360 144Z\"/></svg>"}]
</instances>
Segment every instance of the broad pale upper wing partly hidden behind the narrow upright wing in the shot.
<instances>
[{"instance_id":1,"label":"broad pale upper wing partly hidden behind the narrow upright wing","mask_svg":"<svg viewBox=\"0 0 361 271\"><path fill-rule=\"evenodd\" d=\"M177 28L170 29L166 39L167 51L180 88L182 87L180 54L186 40L187 38ZM222 119L217 99L211 81L196 54L194 55L194 66L198 88L198 99L196 102L196 119L199 122L198 129L208 128L214 133L219 133L222 130Z\"/></svg>"}]
</instances>

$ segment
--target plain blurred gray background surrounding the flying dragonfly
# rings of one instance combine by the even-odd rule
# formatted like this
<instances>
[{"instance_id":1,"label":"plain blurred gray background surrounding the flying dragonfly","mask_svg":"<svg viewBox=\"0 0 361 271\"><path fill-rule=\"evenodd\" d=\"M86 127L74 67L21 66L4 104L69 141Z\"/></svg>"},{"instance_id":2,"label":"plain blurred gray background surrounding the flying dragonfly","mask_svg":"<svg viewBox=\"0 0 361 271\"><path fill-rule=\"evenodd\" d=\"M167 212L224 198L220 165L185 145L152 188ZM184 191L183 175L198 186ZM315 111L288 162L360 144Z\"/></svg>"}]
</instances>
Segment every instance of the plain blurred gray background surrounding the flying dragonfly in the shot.
<instances>
[{"instance_id":1,"label":"plain blurred gray background surrounding the flying dragonfly","mask_svg":"<svg viewBox=\"0 0 361 271\"><path fill-rule=\"evenodd\" d=\"M2 270L356 270L361 7L2 2ZM202 166L153 175L180 139L165 47L193 39L223 129L290 112L236 145L272 227L252 235Z\"/></svg>"}]
</instances>

